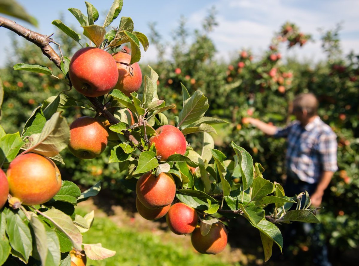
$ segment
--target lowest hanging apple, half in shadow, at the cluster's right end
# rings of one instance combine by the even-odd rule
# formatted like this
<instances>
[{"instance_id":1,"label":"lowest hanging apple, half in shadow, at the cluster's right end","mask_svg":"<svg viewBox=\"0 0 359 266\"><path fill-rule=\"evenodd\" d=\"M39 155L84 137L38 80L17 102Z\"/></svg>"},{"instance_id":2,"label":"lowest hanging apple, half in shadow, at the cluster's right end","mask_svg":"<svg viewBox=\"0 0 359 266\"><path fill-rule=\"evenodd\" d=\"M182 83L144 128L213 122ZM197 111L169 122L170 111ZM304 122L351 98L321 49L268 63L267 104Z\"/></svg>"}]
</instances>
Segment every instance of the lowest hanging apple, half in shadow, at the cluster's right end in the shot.
<instances>
[{"instance_id":1,"label":"lowest hanging apple, half in shadow, at the cluster's right end","mask_svg":"<svg viewBox=\"0 0 359 266\"><path fill-rule=\"evenodd\" d=\"M220 223L214 223L210 231L202 236L199 226L191 234L192 246L202 254L218 254L224 250L228 242L228 234L225 226Z\"/></svg>"}]
</instances>

